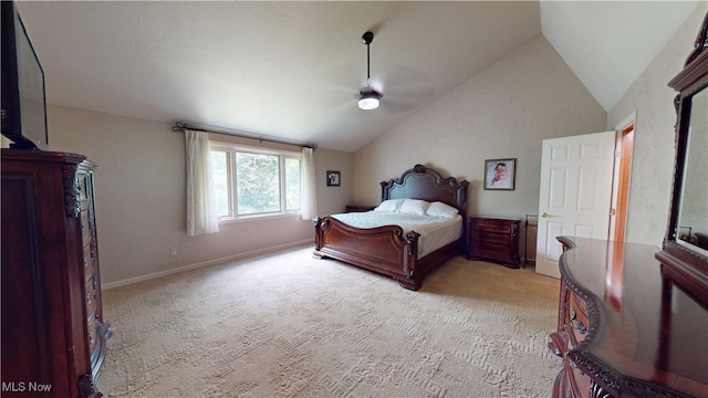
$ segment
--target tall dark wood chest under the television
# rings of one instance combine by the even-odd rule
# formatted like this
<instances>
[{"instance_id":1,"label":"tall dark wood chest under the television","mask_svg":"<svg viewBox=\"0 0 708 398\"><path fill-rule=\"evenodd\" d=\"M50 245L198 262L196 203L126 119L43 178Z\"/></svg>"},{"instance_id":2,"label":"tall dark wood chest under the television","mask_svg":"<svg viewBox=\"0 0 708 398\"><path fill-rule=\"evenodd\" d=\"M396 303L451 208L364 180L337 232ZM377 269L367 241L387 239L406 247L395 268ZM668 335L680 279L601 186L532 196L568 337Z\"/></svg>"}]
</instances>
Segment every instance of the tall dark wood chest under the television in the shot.
<instances>
[{"instance_id":1,"label":"tall dark wood chest under the television","mask_svg":"<svg viewBox=\"0 0 708 398\"><path fill-rule=\"evenodd\" d=\"M65 153L0 156L3 395L101 397L111 333L101 305L95 166Z\"/></svg>"}]
</instances>

